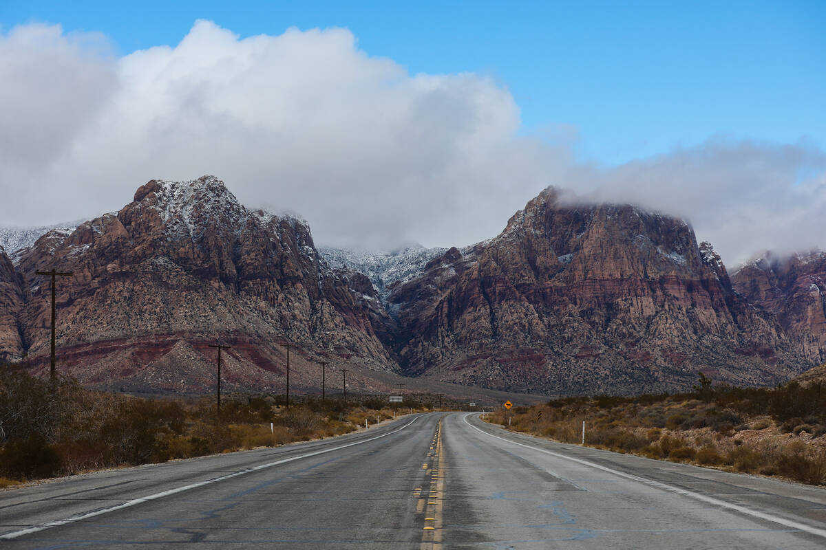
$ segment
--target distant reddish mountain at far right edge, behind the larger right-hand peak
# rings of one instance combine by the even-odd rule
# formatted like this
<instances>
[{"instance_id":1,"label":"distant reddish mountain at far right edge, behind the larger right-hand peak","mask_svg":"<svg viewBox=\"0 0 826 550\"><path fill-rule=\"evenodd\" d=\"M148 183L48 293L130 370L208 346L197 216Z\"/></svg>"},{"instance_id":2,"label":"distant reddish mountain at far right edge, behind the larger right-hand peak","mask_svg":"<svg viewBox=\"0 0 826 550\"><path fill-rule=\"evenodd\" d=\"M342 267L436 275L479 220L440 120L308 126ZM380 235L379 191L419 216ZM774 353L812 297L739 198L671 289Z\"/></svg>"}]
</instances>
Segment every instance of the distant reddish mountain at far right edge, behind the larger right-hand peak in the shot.
<instances>
[{"instance_id":1,"label":"distant reddish mountain at far right edge, behind the larger right-hand peak","mask_svg":"<svg viewBox=\"0 0 826 550\"><path fill-rule=\"evenodd\" d=\"M734 273L734 288L773 313L805 359L826 362L826 252L767 252Z\"/></svg>"}]
</instances>

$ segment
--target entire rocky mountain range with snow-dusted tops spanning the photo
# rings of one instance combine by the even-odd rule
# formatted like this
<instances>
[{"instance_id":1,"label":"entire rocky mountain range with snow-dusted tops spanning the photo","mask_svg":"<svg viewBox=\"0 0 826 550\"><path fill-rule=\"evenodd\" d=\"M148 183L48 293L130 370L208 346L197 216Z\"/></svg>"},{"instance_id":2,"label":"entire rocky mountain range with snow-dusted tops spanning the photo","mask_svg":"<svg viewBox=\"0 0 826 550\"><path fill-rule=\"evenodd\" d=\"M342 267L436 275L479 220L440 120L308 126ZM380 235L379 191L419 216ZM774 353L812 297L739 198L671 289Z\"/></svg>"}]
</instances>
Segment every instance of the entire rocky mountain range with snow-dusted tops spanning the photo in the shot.
<instances>
[{"instance_id":1,"label":"entire rocky mountain range with snow-dusted tops spanning the photo","mask_svg":"<svg viewBox=\"0 0 826 550\"><path fill-rule=\"evenodd\" d=\"M228 390L282 392L286 345L297 391L321 361L360 369L366 391L399 374L546 395L685 390L698 370L772 384L820 357L806 323L823 317L796 298L815 264L730 277L684 221L553 188L471 247L320 252L305 222L246 209L213 176L153 180L0 253L0 360L48 369L36 271L56 267L74 272L58 283L61 372L97 388L207 391L216 341L232 346Z\"/></svg>"}]
</instances>

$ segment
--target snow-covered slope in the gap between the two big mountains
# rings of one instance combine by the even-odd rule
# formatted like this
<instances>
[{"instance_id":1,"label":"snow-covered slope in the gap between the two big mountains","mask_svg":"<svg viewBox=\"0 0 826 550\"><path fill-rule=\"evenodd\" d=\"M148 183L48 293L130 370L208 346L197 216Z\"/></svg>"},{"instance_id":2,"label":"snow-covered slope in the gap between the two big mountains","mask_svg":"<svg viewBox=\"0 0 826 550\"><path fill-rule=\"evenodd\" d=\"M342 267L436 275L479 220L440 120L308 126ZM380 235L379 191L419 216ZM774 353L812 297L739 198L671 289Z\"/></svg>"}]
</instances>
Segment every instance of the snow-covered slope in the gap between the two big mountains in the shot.
<instances>
[{"instance_id":1,"label":"snow-covered slope in the gap between the two big mountains","mask_svg":"<svg viewBox=\"0 0 826 550\"><path fill-rule=\"evenodd\" d=\"M382 298L387 287L401 281L413 279L424 269L425 264L447 251L447 248L425 248L420 244L401 247L393 251L359 251L345 248L318 247L321 256L330 267L360 271L376 287Z\"/></svg>"}]
</instances>

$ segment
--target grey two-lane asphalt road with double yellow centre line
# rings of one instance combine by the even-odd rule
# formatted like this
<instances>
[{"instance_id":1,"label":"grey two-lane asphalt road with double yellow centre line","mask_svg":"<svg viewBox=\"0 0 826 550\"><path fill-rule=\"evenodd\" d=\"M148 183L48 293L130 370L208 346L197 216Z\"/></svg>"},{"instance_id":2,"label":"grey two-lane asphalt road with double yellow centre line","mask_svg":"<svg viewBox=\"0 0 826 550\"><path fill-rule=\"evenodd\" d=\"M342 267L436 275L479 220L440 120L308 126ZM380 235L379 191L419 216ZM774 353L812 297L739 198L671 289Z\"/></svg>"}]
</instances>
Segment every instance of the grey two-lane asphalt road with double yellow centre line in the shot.
<instances>
[{"instance_id":1,"label":"grey two-lane asphalt road with double yellow centre line","mask_svg":"<svg viewBox=\"0 0 826 550\"><path fill-rule=\"evenodd\" d=\"M475 414L0 492L0 548L826 548L826 490Z\"/></svg>"}]
</instances>

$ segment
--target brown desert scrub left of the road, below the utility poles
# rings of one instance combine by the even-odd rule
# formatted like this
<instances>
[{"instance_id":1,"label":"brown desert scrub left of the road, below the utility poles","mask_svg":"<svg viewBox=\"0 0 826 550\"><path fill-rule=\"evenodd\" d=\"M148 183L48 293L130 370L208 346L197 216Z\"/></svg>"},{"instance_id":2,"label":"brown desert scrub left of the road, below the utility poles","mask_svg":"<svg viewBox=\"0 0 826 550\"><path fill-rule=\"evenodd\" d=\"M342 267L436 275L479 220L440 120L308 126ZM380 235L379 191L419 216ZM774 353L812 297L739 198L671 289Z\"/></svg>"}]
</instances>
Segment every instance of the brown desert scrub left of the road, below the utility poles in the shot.
<instances>
[{"instance_id":1,"label":"brown desert scrub left of the road, below the utility poles","mask_svg":"<svg viewBox=\"0 0 826 550\"><path fill-rule=\"evenodd\" d=\"M102 468L165 462L344 434L393 416L387 397L142 398L54 383L0 367L0 487ZM406 397L403 412L425 403ZM272 426L270 423L272 422Z\"/></svg>"}]
</instances>

